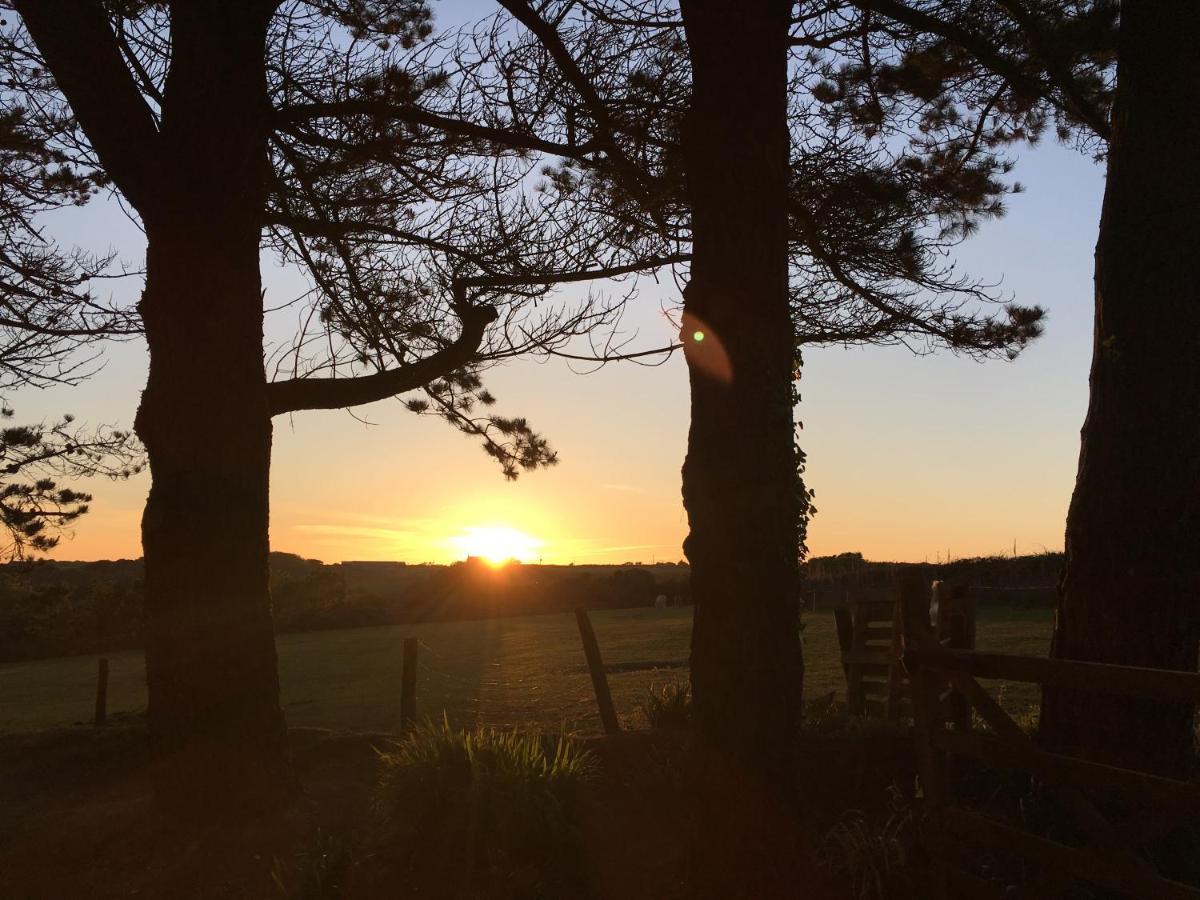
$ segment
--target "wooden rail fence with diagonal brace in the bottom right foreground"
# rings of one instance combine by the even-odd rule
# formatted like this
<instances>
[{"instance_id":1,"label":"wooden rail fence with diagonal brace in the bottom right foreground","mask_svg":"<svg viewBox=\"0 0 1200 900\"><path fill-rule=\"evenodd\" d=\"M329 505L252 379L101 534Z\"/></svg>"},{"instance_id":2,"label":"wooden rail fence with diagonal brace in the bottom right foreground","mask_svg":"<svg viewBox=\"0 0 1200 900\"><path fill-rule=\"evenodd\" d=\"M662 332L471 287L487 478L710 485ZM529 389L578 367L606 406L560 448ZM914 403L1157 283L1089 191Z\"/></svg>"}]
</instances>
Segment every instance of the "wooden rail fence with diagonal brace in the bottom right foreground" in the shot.
<instances>
[{"instance_id":1,"label":"wooden rail fence with diagonal brace in the bottom right foreground","mask_svg":"<svg viewBox=\"0 0 1200 900\"><path fill-rule=\"evenodd\" d=\"M1200 900L1200 889L1164 877L1144 853L1158 838L1200 818L1200 785L1049 752L978 680L1200 703L1200 674L950 649L929 625L925 596L919 584L902 592L902 659L912 685L917 767L942 896L1013 896L953 865L955 847L967 845L997 850L1040 869L1018 896L1064 896L1072 884L1086 882L1145 900ZM972 731L970 722L948 727L948 695L968 704L988 730ZM1082 840L1066 844L967 809L955 797L952 779L954 761L964 758L1028 773L1052 791ZM1112 800L1121 802L1120 821L1114 821Z\"/></svg>"}]
</instances>

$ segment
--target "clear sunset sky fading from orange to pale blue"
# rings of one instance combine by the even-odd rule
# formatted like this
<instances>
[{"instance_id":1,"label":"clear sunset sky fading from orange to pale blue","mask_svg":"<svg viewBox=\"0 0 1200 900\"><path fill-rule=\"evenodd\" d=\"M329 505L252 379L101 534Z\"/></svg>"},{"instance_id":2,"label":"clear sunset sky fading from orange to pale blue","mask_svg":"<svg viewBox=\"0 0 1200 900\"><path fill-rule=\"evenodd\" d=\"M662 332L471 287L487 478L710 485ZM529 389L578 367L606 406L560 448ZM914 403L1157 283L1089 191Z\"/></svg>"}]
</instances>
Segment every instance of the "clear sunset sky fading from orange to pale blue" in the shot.
<instances>
[{"instance_id":1,"label":"clear sunset sky fading from orange to pale blue","mask_svg":"<svg viewBox=\"0 0 1200 900\"><path fill-rule=\"evenodd\" d=\"M1087 404L1103 169L1052 142L1014 155L1014 176L1026 191L955 259L961 271L1000 282L1003 295L1045 307L1045 335L1014 362L914 356L904 348L806 349L797 418L818 510L809 529L812 554L935 562L1062 548ZM112 248L140 263L142 235L114 202L56 214L49 226L61 242ZM264 284L268 306L304 289L295 272L270 259ZM661 306L677 299L670 281L641 282L629 324L642 346L672 338ZM286 324L270 319L268 338L282 340ZM73 413L128 427L145 372L144 344L115 344L88 382L20 389L6 400L22 422ZM512 529L527 535L520 542L527 562L683 557L682 356L587 374L563 360L522 359L492 370L486 382L497 412L528 418L551 439L558 466L508 482L470 438L395 401L360 407L354 416L277 418L272 548L325 562L444 563L486 550L480 535L494 540L504 534L496 529ZM92 509L52 556L140 556L149 474L79 487L95 496Z\"/></svg>"}]
</instances>

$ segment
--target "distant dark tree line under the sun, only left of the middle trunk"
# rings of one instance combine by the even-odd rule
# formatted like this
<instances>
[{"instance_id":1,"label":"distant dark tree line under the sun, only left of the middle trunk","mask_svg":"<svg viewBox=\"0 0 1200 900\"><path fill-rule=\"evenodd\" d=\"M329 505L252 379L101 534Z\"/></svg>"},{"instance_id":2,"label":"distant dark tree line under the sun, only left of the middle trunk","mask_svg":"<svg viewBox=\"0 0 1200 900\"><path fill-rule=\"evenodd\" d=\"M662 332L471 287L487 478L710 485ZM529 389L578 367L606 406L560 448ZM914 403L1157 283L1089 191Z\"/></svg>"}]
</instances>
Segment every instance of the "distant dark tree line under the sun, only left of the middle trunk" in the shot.
<instances>
[{"instance_id":1,"label":"distant dark tree line under the sun, only left of the middle trunk","mask_svg":"<svg viewBox=\"0 0 1200 900\"><path fill-rule=\"evenodd\" d=\"M373 571L271 554L276 634L415 622L650 606L690 600L688 569L482 563ZM142 647L142 560L0 569L0 661Z\"/></svg>"}]
</instances>

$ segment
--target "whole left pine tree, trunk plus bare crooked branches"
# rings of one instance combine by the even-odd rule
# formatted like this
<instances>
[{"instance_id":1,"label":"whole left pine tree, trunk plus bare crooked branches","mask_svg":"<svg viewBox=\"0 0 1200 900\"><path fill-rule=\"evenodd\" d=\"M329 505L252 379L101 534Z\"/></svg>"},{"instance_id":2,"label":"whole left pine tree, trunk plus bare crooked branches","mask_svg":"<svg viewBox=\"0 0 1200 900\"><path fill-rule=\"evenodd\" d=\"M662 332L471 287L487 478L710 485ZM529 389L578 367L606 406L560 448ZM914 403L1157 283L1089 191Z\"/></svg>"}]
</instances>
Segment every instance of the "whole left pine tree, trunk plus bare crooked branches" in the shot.
<instances>
[{"instance_id":1,"label":"whole left pine tree, trunk plus bare crooked branches","mask_svg":"<svg viewBox=\"0 0 1200 900\"><path fill-rule=\"evenodd\" d=\"M530 187L523 151L449 134L416 0L19 1L0 60L42 146L112 187L146 236L150 374L136 431L156 794L235 816L290 792L268 588L271 418L410 402L508 475L553 462L492 415L480 372L619 311L530 300L648 265ZM386 101L383 102L382 101ZM263 347L262 251L307 271L295 342Z\"/></svg>"}]
</instances>

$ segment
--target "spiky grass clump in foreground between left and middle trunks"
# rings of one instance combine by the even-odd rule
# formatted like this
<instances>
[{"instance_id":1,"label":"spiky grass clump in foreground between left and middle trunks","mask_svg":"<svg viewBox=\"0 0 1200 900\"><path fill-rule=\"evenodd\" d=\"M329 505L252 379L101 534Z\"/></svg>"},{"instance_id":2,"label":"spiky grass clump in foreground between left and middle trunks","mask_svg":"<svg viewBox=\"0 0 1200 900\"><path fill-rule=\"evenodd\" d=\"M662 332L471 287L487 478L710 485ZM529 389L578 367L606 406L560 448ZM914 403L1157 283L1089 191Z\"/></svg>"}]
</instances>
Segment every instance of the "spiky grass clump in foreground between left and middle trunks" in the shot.
<instances>
[{"instance_id":1,"label":"spiky grass clump in foreground between left and middle trunks","mask_svg":"<svg viewBox=\"0 0 1200 900\"><path fill-rule=\"evenodd\" d=\"M374 810L422 895L581 896L580 800L593 758L577 740L443 718L380 754Z\"/></svg>"}]
</instances>

